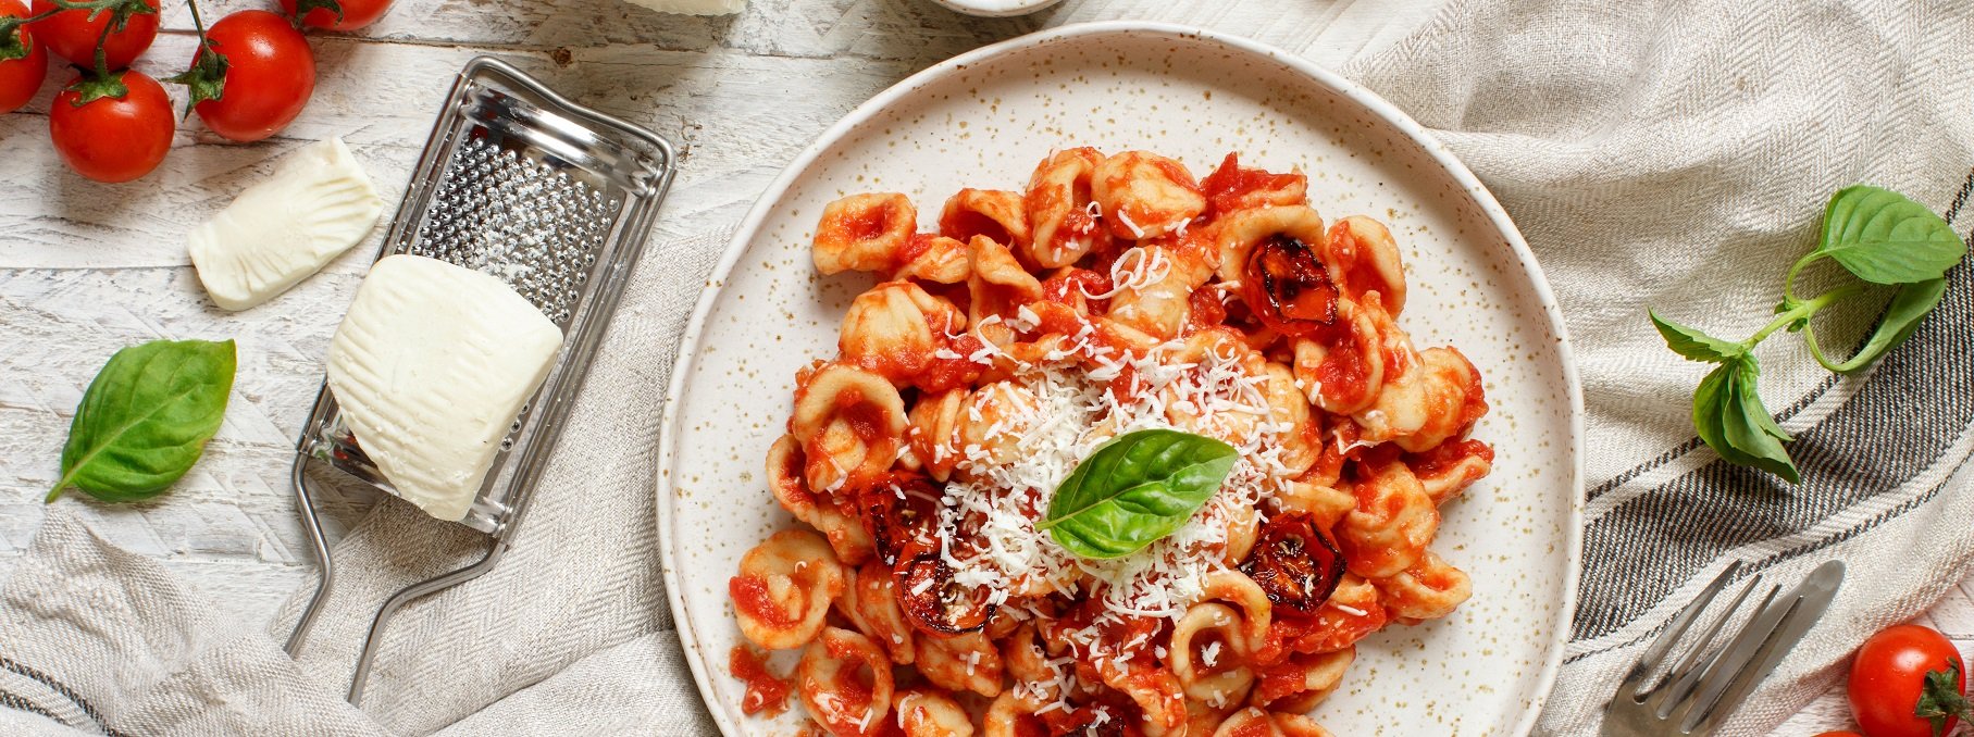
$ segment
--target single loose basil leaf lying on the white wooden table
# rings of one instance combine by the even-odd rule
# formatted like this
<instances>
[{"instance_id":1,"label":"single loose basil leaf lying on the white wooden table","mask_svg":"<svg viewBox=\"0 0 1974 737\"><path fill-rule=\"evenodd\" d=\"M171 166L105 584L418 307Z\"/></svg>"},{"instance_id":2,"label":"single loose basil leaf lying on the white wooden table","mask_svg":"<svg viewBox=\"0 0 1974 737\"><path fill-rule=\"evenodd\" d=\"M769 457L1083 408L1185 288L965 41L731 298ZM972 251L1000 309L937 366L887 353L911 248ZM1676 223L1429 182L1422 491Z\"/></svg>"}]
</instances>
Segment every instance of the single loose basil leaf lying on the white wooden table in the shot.
<instances>
[{"instance_id":1,"label":"single loose basil leaf lying on the white wooden table","mask_svg":"<svg viewBox=\"0 0 1974 737\"><path fill-rule=\"evenodd\" d=\"M233 390L233 341L150 341L111 357L83 392L61 481L107 502L152 499L191 471Z\"/></svg>"}]
</instances>

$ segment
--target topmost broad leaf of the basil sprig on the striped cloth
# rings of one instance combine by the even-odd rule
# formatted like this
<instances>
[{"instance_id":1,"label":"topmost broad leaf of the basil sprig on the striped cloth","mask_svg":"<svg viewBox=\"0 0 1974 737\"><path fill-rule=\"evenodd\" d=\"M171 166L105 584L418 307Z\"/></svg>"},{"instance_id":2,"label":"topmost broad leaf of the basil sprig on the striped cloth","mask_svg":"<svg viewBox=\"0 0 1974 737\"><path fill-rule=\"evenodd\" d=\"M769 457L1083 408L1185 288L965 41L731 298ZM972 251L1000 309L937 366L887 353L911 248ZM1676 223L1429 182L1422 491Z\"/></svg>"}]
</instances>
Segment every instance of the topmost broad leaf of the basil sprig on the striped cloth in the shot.
<instances>
[{"instance_id":1,"label":"topmost broad leaf of the basil sprig on the striped cloth","mask_svg":"<svg viewBox=\"0 0 1974 737\"><path fill-rule=\"evenodd\" d=\"M1891 189L1852 185L1824 207L1824 234L1812 256L1830 256L1865 282L1913 284L1940 278L1966 250L1927 205Z\"/></svg>"}]
</instances>

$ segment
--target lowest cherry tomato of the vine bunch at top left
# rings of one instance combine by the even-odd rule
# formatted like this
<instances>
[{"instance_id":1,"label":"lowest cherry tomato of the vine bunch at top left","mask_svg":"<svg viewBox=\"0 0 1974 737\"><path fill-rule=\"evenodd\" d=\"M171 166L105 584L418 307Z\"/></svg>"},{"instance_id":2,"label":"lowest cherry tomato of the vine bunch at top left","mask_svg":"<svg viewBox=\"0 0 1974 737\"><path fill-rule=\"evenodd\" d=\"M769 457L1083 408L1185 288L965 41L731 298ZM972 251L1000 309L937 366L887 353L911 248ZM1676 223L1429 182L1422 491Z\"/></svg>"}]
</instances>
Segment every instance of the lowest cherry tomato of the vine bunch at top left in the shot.
<instances>
[{"instance_id":1,"label":"lowest cherry tomato of the vine bunch at top left","mask_svg":"<svg viewBox=\"0 0 1974 737\"><path fill-rule=\"evenodd\" d=\"M71 83L47 108L55 152L75 173L97 181L142 177L172 150L172 99L164 87L136 71L118 77L128 89L122 97L81 102Z\"/></svg>"}]
</instances>

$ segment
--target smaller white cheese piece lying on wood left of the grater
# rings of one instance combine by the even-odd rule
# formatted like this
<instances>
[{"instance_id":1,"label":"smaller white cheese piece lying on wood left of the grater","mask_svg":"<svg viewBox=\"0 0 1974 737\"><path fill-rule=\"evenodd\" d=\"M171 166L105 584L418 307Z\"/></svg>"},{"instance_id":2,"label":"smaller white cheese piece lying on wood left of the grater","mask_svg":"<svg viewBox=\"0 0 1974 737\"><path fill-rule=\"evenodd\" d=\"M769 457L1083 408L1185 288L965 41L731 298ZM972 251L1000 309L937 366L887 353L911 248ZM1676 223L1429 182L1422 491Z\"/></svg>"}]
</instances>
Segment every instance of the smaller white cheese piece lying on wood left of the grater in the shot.
<instances>
[{"instance_id":1,"label":"smaller white cheese piece lying on wood left of the grater","mask_svg":"<svg viewBox=\"0 0 1974 737\"><path fill-rule=\"evenodd\" d=\"M186 250L225 309L263 303L363 240L383 199L342 138L302 146L274 175L191 229Z\"/></svg>"}]
</instances>

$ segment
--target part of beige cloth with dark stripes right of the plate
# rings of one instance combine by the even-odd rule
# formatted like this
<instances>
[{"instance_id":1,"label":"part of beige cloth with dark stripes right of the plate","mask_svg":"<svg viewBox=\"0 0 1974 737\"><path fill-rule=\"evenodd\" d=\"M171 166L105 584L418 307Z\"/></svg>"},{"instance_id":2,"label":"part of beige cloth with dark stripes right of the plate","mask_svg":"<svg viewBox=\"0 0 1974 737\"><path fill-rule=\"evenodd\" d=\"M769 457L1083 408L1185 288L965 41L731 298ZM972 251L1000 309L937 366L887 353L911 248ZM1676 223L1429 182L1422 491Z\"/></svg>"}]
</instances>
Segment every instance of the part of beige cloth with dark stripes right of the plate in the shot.
<instances>
[{"instance_id":1,"label":"part of beige cloth with dark stripes right of the plate","mask_svg":"<svg viewBox=\"0 0 1974 737\"><path fill-rule=\"evenodd\" d=\"M1563 305L1589 410L1581 599L1540 731L1589 735L1617 680L1729 562L1792 585L1850 575L1725 733L1763 735L1925 611L1974 558L1974 276L1871 372L1779 335L1763 400L1802 485L1727 465L1688 418L1708 367L1646 307L1739 339L1771 317L1822 205L1865 181L1974 227L1974 6L1964 2L1455 0L1346 73L1500 197ZM1875 309L1875 307L1873 307ZM1873 309L1820 335L1854 345Z\"/></svg>"}]
</instances>

